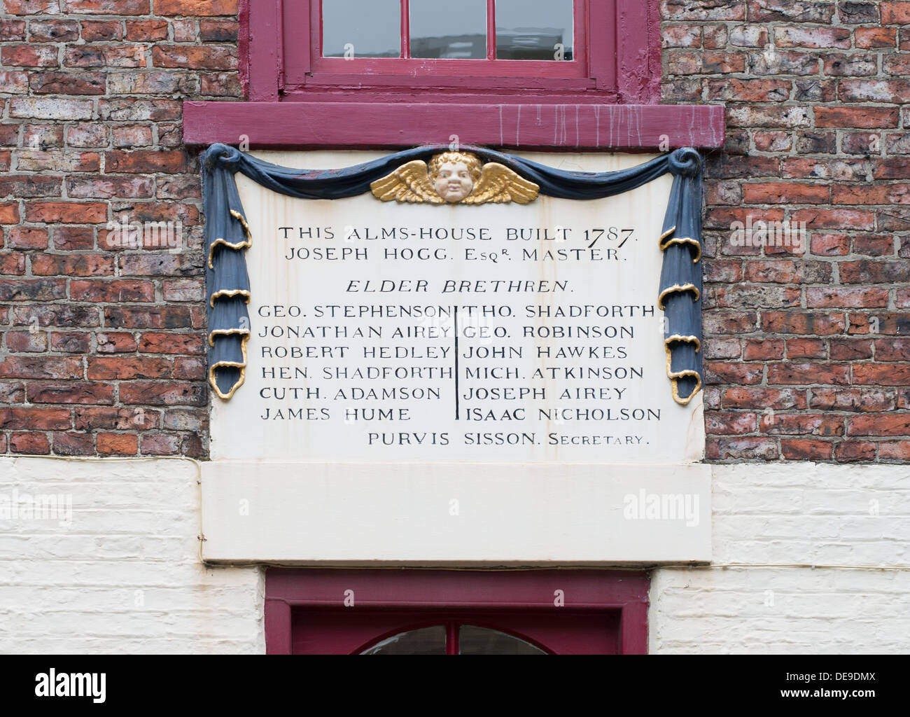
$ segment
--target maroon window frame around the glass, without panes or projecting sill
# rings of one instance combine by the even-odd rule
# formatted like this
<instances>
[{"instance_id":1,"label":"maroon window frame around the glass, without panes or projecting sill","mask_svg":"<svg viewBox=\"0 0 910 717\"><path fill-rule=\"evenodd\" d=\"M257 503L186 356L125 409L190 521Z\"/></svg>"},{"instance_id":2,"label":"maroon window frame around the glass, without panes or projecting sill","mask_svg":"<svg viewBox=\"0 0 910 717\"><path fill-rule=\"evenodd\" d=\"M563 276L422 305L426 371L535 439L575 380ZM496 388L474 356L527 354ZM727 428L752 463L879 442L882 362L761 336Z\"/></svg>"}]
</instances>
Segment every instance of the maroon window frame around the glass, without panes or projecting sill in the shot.
<instances>
[{"instance_id":1,"label":"maroon window frame around the glass, without panes or projecting sill","mask_svg":"<svg viewBox=\"0 0 910 717\"><path fill-rule=\"evenodd\" d=\"M583 56L571 62L545 63L322 58L321 0L241 0L241 80L250 100L293 101L345 87L356 88L361 95L365 88L394 95L421 89L438 92L448 87L484 94L549 90L561 96L582 95L588 96L589 101L614 103L659 101L658 0L573 2L576 35L581 35L575 44L583 48ZM294 28L293 41L286 29L290 27ZM652 70L644 74L649 81L643 85L641 69L635 72L635 67L642 64ZM389 71L391 66L406 67L409 72ZM637 75L632 82L624 81L631 78L619 72L621 66ZM503 69L498 70L499 67ZM411 74L416 69L426 72Z\"/></svg>"}]
</instances>

